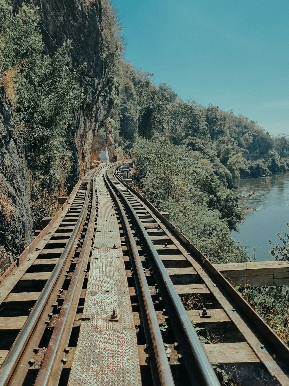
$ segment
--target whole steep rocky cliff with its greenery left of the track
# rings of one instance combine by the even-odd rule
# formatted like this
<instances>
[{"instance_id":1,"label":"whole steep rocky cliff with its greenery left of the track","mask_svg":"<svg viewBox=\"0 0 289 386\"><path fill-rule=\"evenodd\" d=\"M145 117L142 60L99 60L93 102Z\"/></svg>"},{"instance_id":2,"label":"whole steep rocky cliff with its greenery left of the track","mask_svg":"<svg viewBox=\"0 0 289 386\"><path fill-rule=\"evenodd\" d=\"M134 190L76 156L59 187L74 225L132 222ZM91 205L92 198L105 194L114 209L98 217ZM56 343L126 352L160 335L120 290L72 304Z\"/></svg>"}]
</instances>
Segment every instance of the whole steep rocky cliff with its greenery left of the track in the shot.
<instances>
[{"instance_id":1,"label":"whole steep rocky cliff with its greenery left of the track","mask_svg":"<svg viewBox=\"0 0 289 386\"><path fill-rule=\"evenodd\" d=\"M113 157L122 45L108 0L0 0L0 19L1 274L93 149Z\"/></svg>"}]
</instances>

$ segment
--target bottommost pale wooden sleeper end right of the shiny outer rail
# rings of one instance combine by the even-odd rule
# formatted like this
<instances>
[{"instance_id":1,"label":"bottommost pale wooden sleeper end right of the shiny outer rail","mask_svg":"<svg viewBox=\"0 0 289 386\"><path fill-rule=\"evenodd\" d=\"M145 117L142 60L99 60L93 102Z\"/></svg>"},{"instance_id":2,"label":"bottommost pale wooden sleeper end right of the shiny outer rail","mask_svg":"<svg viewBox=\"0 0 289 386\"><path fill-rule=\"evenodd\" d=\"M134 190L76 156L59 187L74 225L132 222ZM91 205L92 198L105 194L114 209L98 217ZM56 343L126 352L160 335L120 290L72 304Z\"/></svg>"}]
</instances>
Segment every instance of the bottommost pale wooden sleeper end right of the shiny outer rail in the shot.
<instances>
[{"instance_id":1,"label":"bottommost pale wooden sleeper end right of the shiny outer rail","mask_svg":"<svg viewBox=\"0 0 289 386\"><path fill-rule=\"evenodd\" d=\"M205 344L203 348L211 363L259 362L245 342Z\"/></svg>"}]
</instances>

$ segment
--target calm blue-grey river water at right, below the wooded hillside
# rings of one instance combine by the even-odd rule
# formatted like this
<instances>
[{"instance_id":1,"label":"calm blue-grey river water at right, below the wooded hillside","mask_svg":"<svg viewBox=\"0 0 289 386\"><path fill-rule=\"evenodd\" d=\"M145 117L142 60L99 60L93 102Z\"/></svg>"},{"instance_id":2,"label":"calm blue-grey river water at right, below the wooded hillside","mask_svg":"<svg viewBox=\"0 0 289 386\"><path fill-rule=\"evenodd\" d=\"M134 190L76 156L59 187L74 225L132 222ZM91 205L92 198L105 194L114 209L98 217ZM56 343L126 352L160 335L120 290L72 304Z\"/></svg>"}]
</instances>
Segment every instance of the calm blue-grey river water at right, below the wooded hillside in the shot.
<instances>
[{"instance_id":1,"label":"calm blue-grey river water at right, below the wooded hillside","mask_svg":"<svg viewBox=\"0 0 289 386\"><path fill-rule=\"evenodd\" d=\"M256 193L247 197L251 191ZM235 194L239 196L240 207L253 207L257 210L245 210L245 220L239 226L239 233L232 232L234 240L249 247L253 254L256 249L256 260L273 259L269 253L272 245L282 243L277 238L288 232L289 222L289 172L274 174L264 178L241 179Z\"/></svg>"}]
</instances>

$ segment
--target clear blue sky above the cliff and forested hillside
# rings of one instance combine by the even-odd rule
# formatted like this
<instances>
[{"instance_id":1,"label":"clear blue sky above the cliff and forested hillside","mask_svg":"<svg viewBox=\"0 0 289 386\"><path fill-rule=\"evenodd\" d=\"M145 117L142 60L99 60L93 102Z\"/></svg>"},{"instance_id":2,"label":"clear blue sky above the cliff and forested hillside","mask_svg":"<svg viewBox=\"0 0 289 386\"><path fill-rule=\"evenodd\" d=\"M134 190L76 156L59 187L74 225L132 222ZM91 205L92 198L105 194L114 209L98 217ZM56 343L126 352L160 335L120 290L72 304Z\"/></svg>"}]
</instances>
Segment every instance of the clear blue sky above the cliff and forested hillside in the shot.
<instances>
[{"instance_id":1,"label":"clear blue sky above the cliff and forested hillside","mask_svg":"<svg viewBox=\"0 0 289 386\"><path fill-rule=\"evenodd\" d=\"M289 134L288 0L114 0L125 59L178 95Z\"/></svg>"}]
</instances>

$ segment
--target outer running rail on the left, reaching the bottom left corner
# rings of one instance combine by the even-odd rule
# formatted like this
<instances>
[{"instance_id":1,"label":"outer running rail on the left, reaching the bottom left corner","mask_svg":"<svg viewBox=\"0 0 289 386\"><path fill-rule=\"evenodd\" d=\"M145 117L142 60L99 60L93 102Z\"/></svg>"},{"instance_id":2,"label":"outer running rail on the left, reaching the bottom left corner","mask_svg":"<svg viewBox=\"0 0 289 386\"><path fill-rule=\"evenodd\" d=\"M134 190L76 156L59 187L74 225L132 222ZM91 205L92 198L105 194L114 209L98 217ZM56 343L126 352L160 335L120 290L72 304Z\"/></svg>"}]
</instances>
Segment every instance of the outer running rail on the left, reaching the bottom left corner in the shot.
<instances>
[{"instance_id":1,"label":"outer running rail on the left, reaching the bottom left corner","mask_svg":"<svg viewBox=\"0 0 289 386\"><path fill-rule=\"evenodd\" d=\"M99 169L97 171L99 171ZM32 308L32 311L30 312L26 322L24 323L24 326L22 327L19 334L17 335L15 341L12 344L11 349L7 354L7 357L5 358L2 366L0 367L0 386L6 386L9 383L10 379L12 378L13 372L15 371L15 367L20 361L20 358L27 347L27 344L29 342L31 335L33 334L35 326L41 317L42 311L44 310L44 307L47 304L47 301L49 300L49 295L52 289L54 288L55 283L62 271L62 267L64 266L64 263L67 259L67 256L71 251L71 248L76 239L77 232L81 226L84 213L86 212L87 201L89 196L89 184L91 182L93 175L94 173L89 175L88 182L87 182L86 197L84 200L84 203L86 205L83 205L82 207L81 213L76 222L76 225L71 234L71 237L69 238L66 246L64 247L64 250L59 257L59 261L55 265L50 278L46 282L38 300L36 301L34 307Z\"/></svg>"}]
</instances>

